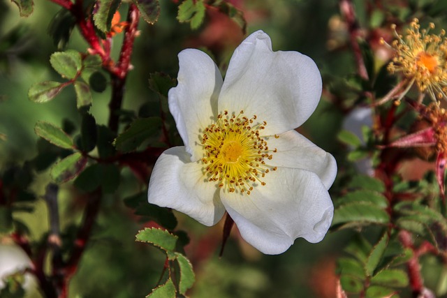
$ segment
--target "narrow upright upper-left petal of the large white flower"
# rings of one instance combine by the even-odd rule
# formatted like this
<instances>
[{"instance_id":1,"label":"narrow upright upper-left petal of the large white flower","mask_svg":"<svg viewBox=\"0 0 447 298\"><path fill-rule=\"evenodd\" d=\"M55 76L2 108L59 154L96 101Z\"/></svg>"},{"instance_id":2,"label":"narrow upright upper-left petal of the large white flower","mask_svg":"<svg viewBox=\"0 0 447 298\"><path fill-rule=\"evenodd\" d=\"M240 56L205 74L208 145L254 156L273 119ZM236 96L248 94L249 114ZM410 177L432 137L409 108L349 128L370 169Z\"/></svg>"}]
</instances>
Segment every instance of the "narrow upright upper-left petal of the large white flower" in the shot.
<instances>
[{"instance_id":1,"label":"narrow upright upper-left petal of the large white flower","mask_svg":"<svg viewBox=\"0 0 447 298\"><path fill-rule=\"evenodd\" d=\"M202 158L200 130L211 123L213 115L217 116L222 75L207 54L186 49L179 53L177 81L177 87L169 90L169 110L186 151L197 161Z\"/></svg>"}]
</instances>

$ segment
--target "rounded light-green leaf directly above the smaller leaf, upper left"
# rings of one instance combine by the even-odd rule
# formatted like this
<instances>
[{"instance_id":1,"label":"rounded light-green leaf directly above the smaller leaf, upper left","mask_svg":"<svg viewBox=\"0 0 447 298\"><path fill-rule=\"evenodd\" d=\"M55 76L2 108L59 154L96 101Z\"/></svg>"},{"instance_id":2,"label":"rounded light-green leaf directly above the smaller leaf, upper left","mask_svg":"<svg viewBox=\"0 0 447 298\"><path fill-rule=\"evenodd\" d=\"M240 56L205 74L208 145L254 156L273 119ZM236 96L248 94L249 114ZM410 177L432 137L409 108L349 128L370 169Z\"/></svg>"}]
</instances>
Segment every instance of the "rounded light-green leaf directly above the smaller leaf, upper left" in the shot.
<instances>
[{"instance_id":1,"label":"rounded light-green leaf directly above the smaller leaf, upper left","mask_svg":"<svg viewBox=\"0 0 447 298\"><path fill-rule=\"evenodd\" d=\"M81 54L74 50L55 52L50 57L50 64L59 75L71 80L78 75L82 68Z\"/></svg>"}]
</instances>

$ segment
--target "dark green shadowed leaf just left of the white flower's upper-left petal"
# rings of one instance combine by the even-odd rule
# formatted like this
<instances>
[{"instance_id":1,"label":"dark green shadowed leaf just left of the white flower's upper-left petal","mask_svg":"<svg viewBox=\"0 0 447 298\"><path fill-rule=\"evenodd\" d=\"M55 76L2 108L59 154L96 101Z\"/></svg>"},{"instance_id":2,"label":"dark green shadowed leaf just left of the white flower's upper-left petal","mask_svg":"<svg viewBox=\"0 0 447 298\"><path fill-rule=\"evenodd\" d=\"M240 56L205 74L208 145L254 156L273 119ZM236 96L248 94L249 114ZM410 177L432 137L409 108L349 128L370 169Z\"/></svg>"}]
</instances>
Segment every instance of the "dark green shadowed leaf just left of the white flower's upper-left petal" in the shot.
<instances>
[{"instance_id":1,"label":"dark green shadowed leaf just left of the white flower's upper-left petal","mask_svg":"<svg viewBox=\"0 0 447 298\"><path fill-rule=\"evenodd\" d=\"M161 128L160 117L139 118L132 122L131 126L115 139L115 147L119 151L133 151L147 138L159 133Z\"/></svg>"}]
</instances>

